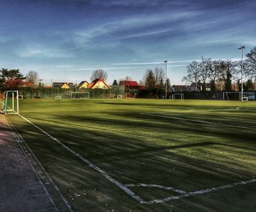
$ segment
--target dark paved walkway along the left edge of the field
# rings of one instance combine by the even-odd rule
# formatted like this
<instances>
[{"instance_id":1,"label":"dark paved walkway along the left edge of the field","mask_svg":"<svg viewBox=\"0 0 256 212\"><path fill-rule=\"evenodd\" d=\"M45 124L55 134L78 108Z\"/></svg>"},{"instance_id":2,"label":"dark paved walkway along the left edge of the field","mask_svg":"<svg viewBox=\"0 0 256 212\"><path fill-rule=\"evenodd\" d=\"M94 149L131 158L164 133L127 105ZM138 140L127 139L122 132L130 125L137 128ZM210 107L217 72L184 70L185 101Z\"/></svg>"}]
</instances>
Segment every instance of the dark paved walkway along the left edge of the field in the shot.
<instances>
[{"instance_id":1,"label":"dark paved walkway along the left edge of the field","mask_svg":"<svg viewBox=\"0 0 256 212\"><path fill-rule=\"evenodd\" d=\"M57 211L0 114L0 211Z\"/></svg>"}]
</instances>

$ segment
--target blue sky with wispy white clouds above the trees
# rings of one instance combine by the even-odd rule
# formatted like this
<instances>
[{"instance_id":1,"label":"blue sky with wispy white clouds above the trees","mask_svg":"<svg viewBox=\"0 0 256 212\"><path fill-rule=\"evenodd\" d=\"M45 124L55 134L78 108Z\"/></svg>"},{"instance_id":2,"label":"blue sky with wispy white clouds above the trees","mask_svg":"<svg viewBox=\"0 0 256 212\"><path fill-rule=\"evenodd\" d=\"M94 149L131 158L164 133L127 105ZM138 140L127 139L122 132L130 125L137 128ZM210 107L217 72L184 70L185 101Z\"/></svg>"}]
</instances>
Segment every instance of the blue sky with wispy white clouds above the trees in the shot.
<instances>
[{"instance_id":1,"label":"blue sky with wispy white clouds above the trees","mask_svg":"<svg viewBox=\"0 0 256 212\"><path fill-rule=\"evenodd\" d=\"M0 0L0 68L35 70L50 82L107 83L167 60L171 84L184 84L187 64L241 58L256 46L253 0Z\"/></svg>"}]
</instances>

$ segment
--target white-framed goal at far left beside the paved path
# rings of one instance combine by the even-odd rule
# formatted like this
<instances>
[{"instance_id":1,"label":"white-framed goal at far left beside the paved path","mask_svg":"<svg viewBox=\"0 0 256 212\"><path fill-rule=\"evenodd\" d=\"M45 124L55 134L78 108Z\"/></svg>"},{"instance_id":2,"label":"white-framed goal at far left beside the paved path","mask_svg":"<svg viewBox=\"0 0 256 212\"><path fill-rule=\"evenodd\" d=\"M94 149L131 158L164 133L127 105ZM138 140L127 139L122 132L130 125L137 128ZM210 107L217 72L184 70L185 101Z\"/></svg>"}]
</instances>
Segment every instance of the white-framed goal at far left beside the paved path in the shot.
<instances>
[{"instance_id":1,"label":"white-framed goal at far left beside the paved path","mask_svg":"<svg viewBox=\"0 0 256 212\"><path fill-rule=\"evenodd\" d=\"M19 113L19 94L18 91L5 91L2 102L2 110L5 114Z\"/></svg>"}]
</instances>

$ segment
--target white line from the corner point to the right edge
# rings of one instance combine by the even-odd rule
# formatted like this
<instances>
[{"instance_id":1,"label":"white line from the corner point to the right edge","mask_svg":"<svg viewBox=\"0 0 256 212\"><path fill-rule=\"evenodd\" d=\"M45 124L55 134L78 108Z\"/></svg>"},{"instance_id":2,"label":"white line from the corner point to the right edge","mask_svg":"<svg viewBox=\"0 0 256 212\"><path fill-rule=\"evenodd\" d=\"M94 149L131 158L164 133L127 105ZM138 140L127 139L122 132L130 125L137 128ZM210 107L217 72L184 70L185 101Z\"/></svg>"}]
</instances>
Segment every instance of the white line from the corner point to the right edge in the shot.
<instances>
[{"instance_id":1,"label":"white line from the corner point to the right edge","mask_svg":"<svg viewBox=\"0 0 256 212\"><path fill-rule=\"evenodd\" d=\"M166 197L166 198L158 199L158 200L151 200L151 201L143 202L143 204L152 205L152 204L156 204L156 203L167 202L170 200L178 200L178 199L185 198L185 197L193 197L193 196L197 196L199 194L206 194L206 193L210 193L210 192L219 191L222 189L233 188L235 186L241 186L241 185L246 185L246 184L255 183L255 182L256 182L256 179L251 179L248 181L240 181L237 183L227 184L225 186L213 187L211 189L203 189L203 190L199 190L196 192L188 192L186 194L181 194L178 196Z\"/></svg>"}]
</instances>

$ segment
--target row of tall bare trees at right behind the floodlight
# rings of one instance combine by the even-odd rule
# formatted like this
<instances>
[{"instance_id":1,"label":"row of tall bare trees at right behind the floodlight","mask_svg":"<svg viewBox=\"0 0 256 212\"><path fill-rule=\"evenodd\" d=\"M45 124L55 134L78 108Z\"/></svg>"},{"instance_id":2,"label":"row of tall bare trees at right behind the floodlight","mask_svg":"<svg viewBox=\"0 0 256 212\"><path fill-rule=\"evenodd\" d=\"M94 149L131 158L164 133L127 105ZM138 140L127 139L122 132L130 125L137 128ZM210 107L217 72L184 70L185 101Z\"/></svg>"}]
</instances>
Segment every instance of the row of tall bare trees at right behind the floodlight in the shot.
<instances>
[{"instance_id":1,"label":"row of tall bare trees at right behind the floodlight","mask_svg":"<svg viewBox=\"0 0 256 212\"><path fill-rule=\"evenodd\" d=\"M243 73L241 72L243 66ZM243 61L231 60L212 60L211 58L202 58L201 61L192 61L187 66L187 76L183 77L183 81L195 83L195 89L198 83L206 91L206 83L211 83L211 91L225 90L241 91L241 80L246 90L255 90L252 83L253 77L256 75L256 47L246 54ZM235 83L232 83L235 82Z\"/></svg>"}]
</instances>

